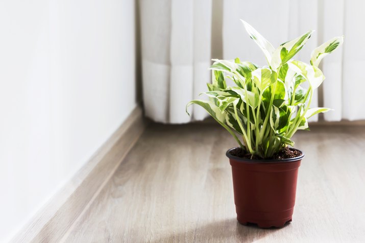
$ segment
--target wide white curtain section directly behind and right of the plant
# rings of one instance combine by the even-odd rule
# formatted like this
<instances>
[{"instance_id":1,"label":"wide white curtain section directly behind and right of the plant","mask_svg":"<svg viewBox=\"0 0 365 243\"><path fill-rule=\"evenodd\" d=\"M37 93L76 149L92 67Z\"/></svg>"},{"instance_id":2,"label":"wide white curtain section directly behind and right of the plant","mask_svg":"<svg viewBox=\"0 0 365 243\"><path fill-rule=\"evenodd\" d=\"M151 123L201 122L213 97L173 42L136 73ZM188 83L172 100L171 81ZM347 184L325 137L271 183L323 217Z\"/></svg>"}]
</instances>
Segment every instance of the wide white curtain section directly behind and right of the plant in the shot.
<instances>
[{"instance_id":1,"label":"wide white curtain section directly behind and right of the plant","mask_svg":"<svg viewBox=\"0 0 365 243\"><path fill-rule=\"evenodd\" d=\"M274 46L308 30L316 30L295 57L306 62L314 47L332 37L345 35L343 47L322 61L320 67L326 80L322 90L315 93L312 106L334 109L324 114L328 121L365 119L362 92L365 78L360 71L365 65L363 9L365 1L361 0L224 0L224 58L239 57L265 65L261 50L248 37L239 18L249 22ZM311 121L315 120L318 116L312 117Z\"/></svg>"}]
</instances>

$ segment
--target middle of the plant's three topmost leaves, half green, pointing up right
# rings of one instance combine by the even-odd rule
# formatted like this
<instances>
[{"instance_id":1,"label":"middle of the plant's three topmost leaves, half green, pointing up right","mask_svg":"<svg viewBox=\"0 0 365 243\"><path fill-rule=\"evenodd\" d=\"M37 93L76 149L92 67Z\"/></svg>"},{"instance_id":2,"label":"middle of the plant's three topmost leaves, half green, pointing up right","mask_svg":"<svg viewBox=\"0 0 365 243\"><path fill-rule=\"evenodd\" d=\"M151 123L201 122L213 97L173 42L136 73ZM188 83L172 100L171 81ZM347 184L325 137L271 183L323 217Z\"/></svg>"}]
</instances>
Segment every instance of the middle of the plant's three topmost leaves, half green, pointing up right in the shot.
<instances>
[{"instance_id":1,"label":"middle of the plant's three topmost leaves, half green, pointing up right","mask_svg":"<svg viewBox=\"0 0 365 243\"><path fill-rule=\"evenodd\" d=\"M276 48L270 62L271 68L276 70L279 66L293 58L310 38L312 32L313 31L308 31L294 40L282 43L278 48Z\"/></svg>"}]
</instances>

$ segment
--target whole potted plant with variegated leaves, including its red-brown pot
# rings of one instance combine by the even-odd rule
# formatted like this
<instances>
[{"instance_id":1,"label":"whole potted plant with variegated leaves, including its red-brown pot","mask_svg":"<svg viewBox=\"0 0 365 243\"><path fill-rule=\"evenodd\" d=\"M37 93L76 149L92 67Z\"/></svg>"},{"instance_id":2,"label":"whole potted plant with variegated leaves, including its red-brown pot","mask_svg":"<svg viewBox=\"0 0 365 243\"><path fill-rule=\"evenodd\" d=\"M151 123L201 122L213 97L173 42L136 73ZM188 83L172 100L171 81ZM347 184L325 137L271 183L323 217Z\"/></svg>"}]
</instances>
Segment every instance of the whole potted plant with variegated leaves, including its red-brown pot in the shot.
<instances>
[{"instance_id":1,"label":"whole potted plant with variegated leaves, including its red-brown pot","mask_svg":"<svg viewBox=\"0 0 365 243\"><path fill-rule=\"evenodd\" d=\"M190 101L202 106L237 141L227 151L232 166L234 201L239 223L282 227L291 221L298 168L304 153L290 148L297 130L309 130L308 118L328 108L310 108L313 90L325 77L322 58L343 43L335 37L311 53L310 64L293 60L313 31L284 42L278 48L241 20L264 53L268 66L252 62L217 60L212 83L203 94L209 100ZM235 84L228 86L226 79ZM303 86L309 84L309 88ZM240 139L240 138L241 139Z\"/></svg>"}]
</instances>

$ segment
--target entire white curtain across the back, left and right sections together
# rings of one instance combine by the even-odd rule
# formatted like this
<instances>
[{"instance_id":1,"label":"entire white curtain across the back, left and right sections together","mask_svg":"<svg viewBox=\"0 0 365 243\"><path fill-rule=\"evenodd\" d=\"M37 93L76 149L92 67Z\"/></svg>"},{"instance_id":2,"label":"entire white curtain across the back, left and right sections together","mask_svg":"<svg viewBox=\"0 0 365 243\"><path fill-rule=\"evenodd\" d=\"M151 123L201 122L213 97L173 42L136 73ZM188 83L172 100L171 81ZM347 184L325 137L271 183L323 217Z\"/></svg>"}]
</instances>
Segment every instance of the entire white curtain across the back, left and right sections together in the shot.
<instances>
[{"instance_id":1,"label":"entire white curtain across the back, left and right sections together","mask_svg":"<svg viewBox=\"0 0 365 243\"><path fill-rule=\"evenodd\" d=\"M258 46L242 27L240 18L249 22L274 46L308 30L316 30L295 57L309 61L310 53L326 40L345 35L343 47L326 57L321 68L326 76L314 93L312 106L334 109L324 114L328 121L365 119L362 90L365 80L365 1L361 0L213 0L223 1L223 28L220 38L224 58L266 65ZM140 0L143 102L146 115L156 122L187 123L206 117L193 106L192 118L185 105L206 90L210 82L207 67L211 58L212 0ZM221 6L222 4L220 4ZM215 29L214 29L215 28ZM218 41L219 42L219 41ZM311 122L318 116L311 117Z\"/></svg>"}]
</instances>

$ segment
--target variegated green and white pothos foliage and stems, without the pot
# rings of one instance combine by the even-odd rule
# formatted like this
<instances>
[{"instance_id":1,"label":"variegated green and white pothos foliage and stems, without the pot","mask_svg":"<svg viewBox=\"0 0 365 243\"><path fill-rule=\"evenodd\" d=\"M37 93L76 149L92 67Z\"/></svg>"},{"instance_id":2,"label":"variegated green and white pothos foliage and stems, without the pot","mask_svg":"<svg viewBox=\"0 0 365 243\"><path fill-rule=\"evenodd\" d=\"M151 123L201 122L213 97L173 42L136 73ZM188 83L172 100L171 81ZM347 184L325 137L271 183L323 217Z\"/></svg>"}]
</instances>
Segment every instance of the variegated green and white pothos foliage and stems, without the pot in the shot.
<instances>
[{"instance_id":1,"label":"variegated green and white pothos foliage and stems, without the pot","mask_svg":"<svg viewBox=\"0 0 365 243\"><path fill-rule=\"evenodd\" d=\"M321 60L343 43L344 37L334 37L318 46L304 63L292 59L310 38L308 31L293 40L274 46L252 26L241 20L250 37L264 53L267 66L252 62L217 60L208 83L209 100L190 101L202 106L237 141L242 149L255 157L272 158L283 147L294 145L293 134L308 129L307 119L329 108L310 108L313 91L325 77L318 68ZM227 86L231 79L235 86ZM309 88L304 88L307 82Z\"/></svg>"}]
</instances>

